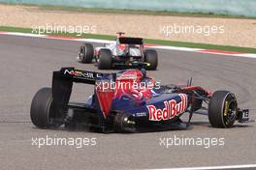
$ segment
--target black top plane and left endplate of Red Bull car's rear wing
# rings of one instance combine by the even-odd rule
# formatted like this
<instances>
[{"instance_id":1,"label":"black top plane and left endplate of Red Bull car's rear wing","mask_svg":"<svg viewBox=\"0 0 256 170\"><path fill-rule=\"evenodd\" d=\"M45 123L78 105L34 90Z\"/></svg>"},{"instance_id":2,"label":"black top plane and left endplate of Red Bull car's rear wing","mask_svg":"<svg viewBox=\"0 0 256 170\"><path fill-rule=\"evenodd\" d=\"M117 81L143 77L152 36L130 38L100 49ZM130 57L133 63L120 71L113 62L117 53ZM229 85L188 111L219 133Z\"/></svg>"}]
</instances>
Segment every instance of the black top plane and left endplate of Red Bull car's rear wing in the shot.
<instances>
[{"instance_id":1,"label":"black top plane and left endplate of Red Bull car's rear wing","mask_svg":"<svg viewBox=\"0 0 256 170\"><path fill-rule=\"evenodd\" d=\"M59 108L65 109L72 93L73 82L95 85L97 79L115 75L115 73L80 71L75 68L53 71L51 84L53 101Z\"/></svg>"}]
</instances>

